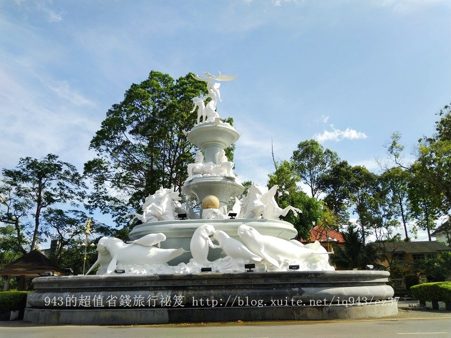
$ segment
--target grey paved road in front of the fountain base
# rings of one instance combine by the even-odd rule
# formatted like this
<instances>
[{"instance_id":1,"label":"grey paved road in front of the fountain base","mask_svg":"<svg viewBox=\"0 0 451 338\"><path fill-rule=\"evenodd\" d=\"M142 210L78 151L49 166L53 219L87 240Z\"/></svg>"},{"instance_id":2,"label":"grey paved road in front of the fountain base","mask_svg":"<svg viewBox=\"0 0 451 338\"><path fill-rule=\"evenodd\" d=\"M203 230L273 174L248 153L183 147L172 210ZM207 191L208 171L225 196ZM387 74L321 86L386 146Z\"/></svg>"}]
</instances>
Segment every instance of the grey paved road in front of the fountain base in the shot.
<instances>
[{"instance_id":1,"label":"grey paved road in front of the fountain base","mask_svg":"<svg viewBox=\"0 0 451 338\"><path fill-rule=\"evenodd\" d=\"M227 322L127 326L35 325L23 321L0 322L1 337L447 337L451 311L426 310L400 301L394 316L322 321ZM413 304L412 304L413 305Z\"/></svg>"}]
</instances>

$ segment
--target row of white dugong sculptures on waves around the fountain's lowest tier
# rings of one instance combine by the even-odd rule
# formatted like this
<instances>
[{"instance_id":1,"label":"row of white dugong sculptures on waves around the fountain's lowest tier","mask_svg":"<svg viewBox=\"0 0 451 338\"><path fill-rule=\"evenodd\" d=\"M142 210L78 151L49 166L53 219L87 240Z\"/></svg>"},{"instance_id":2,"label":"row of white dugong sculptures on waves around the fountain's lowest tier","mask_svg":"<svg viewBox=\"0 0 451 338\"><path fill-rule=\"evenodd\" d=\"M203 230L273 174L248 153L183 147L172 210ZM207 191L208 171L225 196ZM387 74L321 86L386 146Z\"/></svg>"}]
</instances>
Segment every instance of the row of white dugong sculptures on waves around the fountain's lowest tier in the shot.
<instances>
[{"instance_id":1,"label":"row of white dugong sculptures on waves around the fountain's lowest tier","mask_svg":"<svg viewBox=\"0 0 451 338\"><path fill-rule=\"evenodd\" d=\"M158 235L159 239L158 236L147 235L142 240L128 244L115 237L101 238L98 244L99 259L88 273L98 264L101 266L97 274L111 274L115 269L123 269L129 274L198 273L201 267L210 267L217 272L242 272L244 264L251 262L256 264L256 271L288 271L289 266L294 264L303 270L334 270L328 263L329 253L318 241L303 245L298 241L262 235L246 224L238 228L241 241L222 230L216 230L211 224L200 225L190 241L193 258L188 263L176 266L168 265L167 262L189 251L154 247L165 238L164 234ZM226 256L210 261L208 253L211 249L220 249Z\"/></svg>"}]
</instances>

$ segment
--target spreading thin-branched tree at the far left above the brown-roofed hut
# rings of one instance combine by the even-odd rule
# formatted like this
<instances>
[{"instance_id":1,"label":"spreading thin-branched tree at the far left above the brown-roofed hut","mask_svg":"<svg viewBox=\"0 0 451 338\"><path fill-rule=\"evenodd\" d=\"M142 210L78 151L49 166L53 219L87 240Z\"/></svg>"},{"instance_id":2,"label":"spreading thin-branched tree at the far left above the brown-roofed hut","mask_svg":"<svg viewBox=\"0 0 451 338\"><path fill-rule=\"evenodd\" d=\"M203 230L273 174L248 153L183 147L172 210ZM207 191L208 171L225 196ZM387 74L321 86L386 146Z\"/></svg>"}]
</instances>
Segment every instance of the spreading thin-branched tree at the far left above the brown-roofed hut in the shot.
<instances>
[{"instance_id":1,"label":"spreading thin-branched tree at the far left above the brown-roofed hut","mask_svg":"<svg viewBox=\"0 0 451 338\"><path fill-rule=\"evenodd\" d=\"M81 206L86 197L77 169L53 154L21 158L15 169L3 169L2 174L0 221L14 226L15 246L22 253L43 239L43 213L63 204Z\"/></svg>"}]
</instances>

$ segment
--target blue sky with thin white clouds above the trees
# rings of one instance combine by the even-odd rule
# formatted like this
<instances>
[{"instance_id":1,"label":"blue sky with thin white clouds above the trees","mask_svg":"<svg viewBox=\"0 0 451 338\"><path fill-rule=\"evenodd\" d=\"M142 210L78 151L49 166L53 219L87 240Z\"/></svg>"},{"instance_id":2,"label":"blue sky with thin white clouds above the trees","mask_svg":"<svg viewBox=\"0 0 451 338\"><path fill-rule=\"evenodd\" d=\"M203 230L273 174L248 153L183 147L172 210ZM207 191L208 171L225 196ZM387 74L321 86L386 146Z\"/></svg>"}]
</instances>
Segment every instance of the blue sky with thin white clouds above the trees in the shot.
<instances>
[{"instance_id":1,"label":"blue sky with thin white clouds above the trees","mask_svg":"<svg viewBox=\"0 0 451 338\"><path fill-rule=\"evenodd\" d=\"M265 185L316 138L377 171L394 131L406 157L450 102L451 2L1 1L0 166L60 156L80 170L107 110L150 70L239 77L221 117L236 173Z\"/></svg>"}]
</instances>

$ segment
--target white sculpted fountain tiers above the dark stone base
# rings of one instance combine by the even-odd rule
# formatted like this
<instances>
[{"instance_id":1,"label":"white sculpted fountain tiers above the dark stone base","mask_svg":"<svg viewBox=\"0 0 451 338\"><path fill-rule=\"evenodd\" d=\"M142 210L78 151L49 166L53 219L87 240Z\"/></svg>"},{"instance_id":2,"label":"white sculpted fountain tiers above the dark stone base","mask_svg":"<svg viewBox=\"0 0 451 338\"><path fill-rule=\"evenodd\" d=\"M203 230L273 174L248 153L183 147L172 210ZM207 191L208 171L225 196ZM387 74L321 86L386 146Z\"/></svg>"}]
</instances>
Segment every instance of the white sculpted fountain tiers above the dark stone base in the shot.
<instances>
[{"instance_id":1,"label":"white sculpted fountain tiers above the dark stone base","mask_svg":"<svg viewBox=\"0 0 451 338\"><path fill-rule=\"evenodd\" d=\"M244 187L233 173L234 163L224 149L240 135L219 119L219 83L214 82L231 81L237 76L204 74L205 78L194 78L206 82L208 95L193 98L192 113L197 109L197 124L186 132L199 150L194 163L188 164L188 178L182 187L182 194L202 202L200 215L181 208L178 192L161 187L146 198L142 214L124 216L134 216L130 223L135 219L143 223L130 232L131 241L100 239L98 259L88 273L98 264L97 274L113 273L115 269L134 274L197 273L204 266L216 272L243 272L246 263L255 263L256 271L288 271L290 264L298 264L303 270L333 270L319 242L290 242L297 231L279 218L290 210L295 216L302 211L278 206L277 185L265 193L252 185L243 200L238 199ZM228 210L233 198L234 206ZM190 214L191 219L177 219L180 213ZM230 219L229 213L238 217Z\"/></svg>"}]
</instances>

